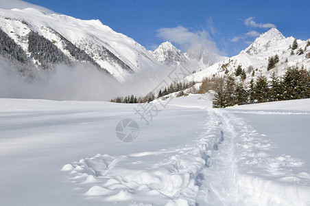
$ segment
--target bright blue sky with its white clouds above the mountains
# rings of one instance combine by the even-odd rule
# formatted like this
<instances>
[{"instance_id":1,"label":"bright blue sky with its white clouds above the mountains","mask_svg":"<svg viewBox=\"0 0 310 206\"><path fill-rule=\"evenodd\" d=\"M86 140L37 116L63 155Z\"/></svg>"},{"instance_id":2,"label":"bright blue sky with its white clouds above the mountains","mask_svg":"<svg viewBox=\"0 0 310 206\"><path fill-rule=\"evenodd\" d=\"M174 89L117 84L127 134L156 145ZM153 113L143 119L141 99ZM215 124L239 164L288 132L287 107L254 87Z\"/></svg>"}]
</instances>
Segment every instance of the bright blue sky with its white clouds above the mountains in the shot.
<instances>
[{"instance_id":1,"label":"bright blue sky with its white clouds above the mountains","mask_svg":"<svg viewBox=\"0 0 310 206\"><path fill-rule=\"evenodd\" d=\"M284 36L310 38L310 1L26 0L79 19L99 19L154 49L171 41L183 52L204 43L233 56L276 27Z\"/></svg>"}]
</instances>

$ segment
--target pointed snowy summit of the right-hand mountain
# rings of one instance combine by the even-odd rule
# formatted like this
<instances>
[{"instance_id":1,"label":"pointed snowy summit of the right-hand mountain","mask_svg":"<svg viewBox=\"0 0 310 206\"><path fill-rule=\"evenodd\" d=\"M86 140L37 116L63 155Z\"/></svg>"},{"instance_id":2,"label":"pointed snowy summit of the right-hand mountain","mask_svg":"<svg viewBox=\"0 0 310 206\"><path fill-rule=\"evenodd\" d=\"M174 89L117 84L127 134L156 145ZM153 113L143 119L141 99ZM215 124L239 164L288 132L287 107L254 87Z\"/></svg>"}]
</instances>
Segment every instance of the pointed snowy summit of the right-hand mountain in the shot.
<instances>
[{"instance_id":1,"label":"pointed snowy summit of the right-hand mountain","mask_svg":"<svg viewBox=\"0 0 310 206\"><path fill-rule=\"evenodd\" d=\"M248 48L241 51L241 54L260 54L266 52L272 47L276 47L280 41L283 41L285 36L276 28L271 28L267 32L261 34Z\"/></svg>"}]
</instances>

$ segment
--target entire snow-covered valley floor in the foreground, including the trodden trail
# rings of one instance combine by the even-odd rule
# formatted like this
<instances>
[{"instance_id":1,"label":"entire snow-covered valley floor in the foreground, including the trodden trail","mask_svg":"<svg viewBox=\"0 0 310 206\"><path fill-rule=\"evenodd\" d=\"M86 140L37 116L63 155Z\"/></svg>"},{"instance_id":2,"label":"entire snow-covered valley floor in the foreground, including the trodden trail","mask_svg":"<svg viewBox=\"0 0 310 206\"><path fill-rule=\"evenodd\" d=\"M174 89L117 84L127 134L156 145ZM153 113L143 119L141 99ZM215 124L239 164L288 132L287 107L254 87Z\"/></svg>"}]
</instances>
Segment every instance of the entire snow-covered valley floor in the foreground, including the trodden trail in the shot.
<instances>
[{"instance_id":1,"label":"entire snow-covered valley floor in the foreground, including the trodden trail","mask_svg":"<svg viewBox=\"0 0 310 206\"><path fill-rule=\"evenodd\" d=\"M0 99L0 205L310 205L310 99L191 95L149 125L136 107ZM124 118L140 127L129 143Z\"/></svg>"}]
</instances>

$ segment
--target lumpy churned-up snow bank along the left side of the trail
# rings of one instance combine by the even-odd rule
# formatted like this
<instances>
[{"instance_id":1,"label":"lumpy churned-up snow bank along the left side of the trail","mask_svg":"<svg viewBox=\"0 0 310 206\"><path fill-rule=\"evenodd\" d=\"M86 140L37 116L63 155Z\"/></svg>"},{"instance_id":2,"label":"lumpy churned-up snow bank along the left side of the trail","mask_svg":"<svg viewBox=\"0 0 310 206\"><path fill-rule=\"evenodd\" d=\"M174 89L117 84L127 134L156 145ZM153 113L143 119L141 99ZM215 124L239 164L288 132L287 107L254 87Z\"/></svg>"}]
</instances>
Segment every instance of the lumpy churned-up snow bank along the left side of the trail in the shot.
<instances>
[{"instance_id":1,"label":"lumpy churned-up snow bank along the left side of the trail","mask_svg":"<svg viewBox=\"0 0 310 206\"><path fill-rule=\"evenodd\" d=\"M85 196L103 201L195 205L200 171L210 164L211 150L224 140L217 115L208 110L204 133L195 144L157 152L112 157L96 155L64 165L73 183L87 185Z\"/></svg>"}]
</instances>

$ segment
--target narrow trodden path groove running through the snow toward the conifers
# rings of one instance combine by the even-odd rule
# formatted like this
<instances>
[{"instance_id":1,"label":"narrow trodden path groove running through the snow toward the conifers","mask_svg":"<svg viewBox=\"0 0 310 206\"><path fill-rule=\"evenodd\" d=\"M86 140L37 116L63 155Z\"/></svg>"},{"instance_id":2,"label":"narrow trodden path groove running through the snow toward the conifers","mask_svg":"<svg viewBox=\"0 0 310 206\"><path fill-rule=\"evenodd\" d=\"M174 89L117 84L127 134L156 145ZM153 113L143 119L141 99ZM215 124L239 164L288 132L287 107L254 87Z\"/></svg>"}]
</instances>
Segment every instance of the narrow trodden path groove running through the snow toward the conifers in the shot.
<instances>
[{"instance_id":1,"label":"narrow trodden path groove running through the snow toward the conifers","mask_svg":"<svg viewBox=\"0 0 310 206\"><path fill-rule=\"evenodd\" d=\"M204 180L197 196L199 205L233 205L238 201L235 182L234 132L219 111L217 115L222 128L223 143L210 151L211 165L202 170ZM221 114L221 115L219 115Z\"/></svg>"}]
</instances>

